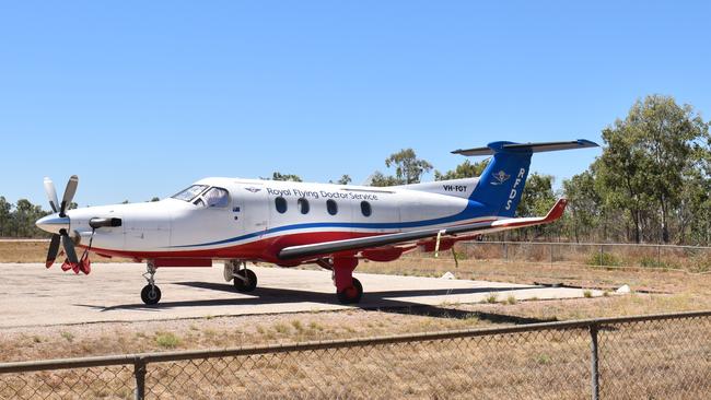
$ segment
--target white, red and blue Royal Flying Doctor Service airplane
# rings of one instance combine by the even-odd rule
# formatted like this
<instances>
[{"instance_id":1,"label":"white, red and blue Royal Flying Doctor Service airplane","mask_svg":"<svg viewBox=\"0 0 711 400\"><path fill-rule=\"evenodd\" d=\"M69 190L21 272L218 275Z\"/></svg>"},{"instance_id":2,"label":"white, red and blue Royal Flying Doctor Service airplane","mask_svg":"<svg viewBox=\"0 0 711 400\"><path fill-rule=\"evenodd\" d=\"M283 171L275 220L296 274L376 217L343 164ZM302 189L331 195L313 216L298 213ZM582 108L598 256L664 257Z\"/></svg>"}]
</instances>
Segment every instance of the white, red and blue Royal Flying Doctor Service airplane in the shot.
<instances>
[{"instance_id":1,"label":"white, red and blue Royal Flying Doctor Service airplane","mask_svg":"<svg viewBox=\"0 0 711 400\"><path fill-rule=\"evenodd\" d=\"M363 286L352 273L359 260L393 261L408 251L444 251L482 234L558 220L560 199L541 217L514 217L533 153L598 146L579 139L545 143L498 141L455 150L491 156L480 177L391 187L308 184L242 178L205 178L176 195L145 203L68 210L72 176L58 201L53 181L44 186L53 214L36 225L51 233L46 267L58 256L61 269L91 272L89 252L147 263L141 299L158 304L159 268L211 267L224 261L224 279L252 292L257 277L247 262L279 267L316 264L331 271L342 304L359 303ZM84 249L78 257L75 247Z\"/></svg>"}]
</instances>

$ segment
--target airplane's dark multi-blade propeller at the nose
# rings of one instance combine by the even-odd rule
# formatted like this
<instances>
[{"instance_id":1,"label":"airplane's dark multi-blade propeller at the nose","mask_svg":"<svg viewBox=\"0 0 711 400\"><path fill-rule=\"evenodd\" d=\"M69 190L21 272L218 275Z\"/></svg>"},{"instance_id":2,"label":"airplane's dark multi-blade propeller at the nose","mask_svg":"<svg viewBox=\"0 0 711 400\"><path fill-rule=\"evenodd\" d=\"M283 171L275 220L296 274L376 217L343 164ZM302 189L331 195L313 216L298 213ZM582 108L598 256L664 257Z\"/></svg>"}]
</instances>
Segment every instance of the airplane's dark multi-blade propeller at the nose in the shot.
<instances>
[{"instance_id":1,"label":"airplane's dark multi-blade propeller at the nose","mask_svg":"<svg viewBox=\"0 0 711 400\"><path fill-rule=\"evenodd\" d=\"M51 239L49 240L49 249L47 251L47 261L45 262L45 266L47 268L51 267L51 264L57 259L60 242L65 249L65 254L67 255L67 260L69 260L72 266L75 266L79 263L79 258L77 258L74 242L71 239L68 232L70 220L69 216L67 216L67 208L69 204L71 204L71 201L74 198L74 193L77 193L79 177L77 177L77 175L72 175L69 178L67 188L65 189L65 195L61 198L61 203L57 200L57 189L55 189L55 184L51 181L51 179L45 178L44 185L45 191L47 192L47 198L49 199L49 207L51 207L51 210L59 215L58 219L53 219L51 223L60 226L59 232L53 234Z\"/></svg>"}]
</instances>

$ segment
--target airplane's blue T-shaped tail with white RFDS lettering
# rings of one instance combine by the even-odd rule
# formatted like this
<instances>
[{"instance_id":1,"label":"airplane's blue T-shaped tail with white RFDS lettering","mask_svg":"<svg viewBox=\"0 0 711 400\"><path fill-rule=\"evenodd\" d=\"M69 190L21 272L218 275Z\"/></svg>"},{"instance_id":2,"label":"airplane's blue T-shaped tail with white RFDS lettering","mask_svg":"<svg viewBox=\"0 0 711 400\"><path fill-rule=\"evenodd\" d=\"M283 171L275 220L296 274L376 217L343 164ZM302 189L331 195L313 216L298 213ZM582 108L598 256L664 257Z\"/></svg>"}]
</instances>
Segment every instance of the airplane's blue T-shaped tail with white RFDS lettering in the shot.
<instances>
[{"instance_id":1,"label":"airplane's blue T-shaped tail with white RFDS lettering","mask_svg":"<svg viewBox=\"0 0 711 400\"><path fill-rule=\"evenodd\" d=\"M547 143L492 142L486 148L455 150L452 153L493 154L469 200L481 203L493 215L512 217L526 185L533 153L596 146L596 143L583 139Z\"/></svg>"}]
</instances>

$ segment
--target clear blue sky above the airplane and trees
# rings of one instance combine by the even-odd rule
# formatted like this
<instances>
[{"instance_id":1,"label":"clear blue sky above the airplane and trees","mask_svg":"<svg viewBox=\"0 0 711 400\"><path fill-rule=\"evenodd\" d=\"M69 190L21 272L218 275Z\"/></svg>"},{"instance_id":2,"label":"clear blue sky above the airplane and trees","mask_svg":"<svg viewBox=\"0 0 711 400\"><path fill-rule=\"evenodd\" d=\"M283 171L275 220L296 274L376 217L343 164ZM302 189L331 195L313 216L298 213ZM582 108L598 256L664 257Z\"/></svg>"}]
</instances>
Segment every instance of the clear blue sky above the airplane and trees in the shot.
<instances>
[{"instance_id":1,"label":"clear blue sky above the airplane and trees","mask_svg":"<svg viewBox=\"0 0 711 400\"><path fill-rule=\"evenodd\" d=\"M403 148L586 138L646 94L711 111L708 2L0 5L0 195L168 196L206 176L362 183ZM539 154L559 180L598 150Z\"/></svg>"}]
</instances>

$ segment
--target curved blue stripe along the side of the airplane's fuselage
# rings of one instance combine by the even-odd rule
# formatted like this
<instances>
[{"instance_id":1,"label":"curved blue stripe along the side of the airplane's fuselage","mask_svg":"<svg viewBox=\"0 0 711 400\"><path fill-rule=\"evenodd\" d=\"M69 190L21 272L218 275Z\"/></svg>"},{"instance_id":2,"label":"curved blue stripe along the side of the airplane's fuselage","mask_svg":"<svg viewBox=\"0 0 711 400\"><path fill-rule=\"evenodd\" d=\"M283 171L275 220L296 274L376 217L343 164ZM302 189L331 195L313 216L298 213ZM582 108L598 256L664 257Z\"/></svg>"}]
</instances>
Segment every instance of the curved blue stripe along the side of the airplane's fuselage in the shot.
<instances>
[{"instance_id":1,"label":"curved blue stripe along the side of the airplane's fuselage","mask_svg":"<svg viewBox=\"0 0 711 400\"><path fill-rule=\"evenodd\" d=\"M464 220L491 215L488 212L489 210L486 205L477 201L469 200L467 207L462 212L454 215L443 216L443 217L432 219L432 220L410 221L410 222L312 222L305 224L277 226L265 231L258 231L242 236L231 237L229 239L222 239L222 240L210 242L210 243L201 243L198 245L170 246L170 248L224 245L228 243L246 240L253 237L268 235L277 232L310 230L314 227L351 227L351 228L365 228L365 230L397 230L397 228L408 228L408 227L423 227L423 226L440 225L450 222L457 222L457 221L464 221Z\"/></svg>"}]
</instances>

